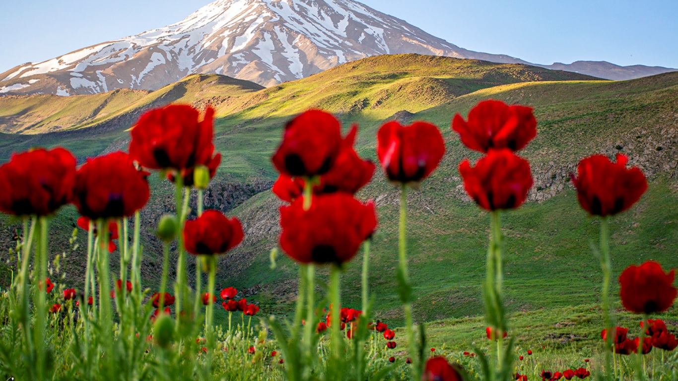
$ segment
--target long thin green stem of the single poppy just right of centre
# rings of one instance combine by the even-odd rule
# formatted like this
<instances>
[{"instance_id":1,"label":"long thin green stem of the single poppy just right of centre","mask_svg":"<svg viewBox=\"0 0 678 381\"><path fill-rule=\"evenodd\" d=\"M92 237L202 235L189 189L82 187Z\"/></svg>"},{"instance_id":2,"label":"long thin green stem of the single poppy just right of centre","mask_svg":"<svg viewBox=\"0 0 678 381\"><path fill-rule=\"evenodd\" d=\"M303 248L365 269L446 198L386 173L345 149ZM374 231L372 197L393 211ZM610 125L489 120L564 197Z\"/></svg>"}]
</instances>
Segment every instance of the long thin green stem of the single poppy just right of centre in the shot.
<instances>
[{"instance_id":1,"label":"long thin green stem of the single poppy just right of centre","mask_svg":"<svg viewBox=\"0 0 678 381\"><path fill-rule=\"evenodd\" d=\"M412 319L412 296L410 279L407 275L407 186L403 184L400 193L400 229L399 229L399 272L401 300L403 308L405 309L405 332L407 332L407 344L409 346L410 356L412 357L412 380L419 381L421 375L419 374L420 359L417 351L416 343L414 342L414 321Z\"/></svg>"}]
</instances>

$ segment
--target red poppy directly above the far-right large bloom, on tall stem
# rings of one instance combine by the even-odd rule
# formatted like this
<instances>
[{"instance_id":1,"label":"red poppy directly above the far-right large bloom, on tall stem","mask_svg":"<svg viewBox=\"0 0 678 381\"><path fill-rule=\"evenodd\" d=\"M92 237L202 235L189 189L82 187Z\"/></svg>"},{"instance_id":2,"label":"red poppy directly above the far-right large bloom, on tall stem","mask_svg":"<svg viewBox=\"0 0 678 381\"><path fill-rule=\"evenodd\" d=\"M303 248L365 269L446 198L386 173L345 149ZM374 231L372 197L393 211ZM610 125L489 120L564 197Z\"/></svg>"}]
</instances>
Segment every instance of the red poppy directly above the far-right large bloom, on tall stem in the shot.
<instances>
[{"instance_id":1,"label":"red poppy directly above the far-right large bloom, on tall stem","mask_svg":"<svg viewBox=\"0 0 678 381\"><path fill-rule=\"evenodd\" d=\"M572 183L577 188L577 198L586 212L595 216L612 216L629 209L647 189L645 175L638 167L626 169L629 159L617 155L612 163L603 155L582 159L577 167L577 177Z\"/></svg>"}]
</instances>

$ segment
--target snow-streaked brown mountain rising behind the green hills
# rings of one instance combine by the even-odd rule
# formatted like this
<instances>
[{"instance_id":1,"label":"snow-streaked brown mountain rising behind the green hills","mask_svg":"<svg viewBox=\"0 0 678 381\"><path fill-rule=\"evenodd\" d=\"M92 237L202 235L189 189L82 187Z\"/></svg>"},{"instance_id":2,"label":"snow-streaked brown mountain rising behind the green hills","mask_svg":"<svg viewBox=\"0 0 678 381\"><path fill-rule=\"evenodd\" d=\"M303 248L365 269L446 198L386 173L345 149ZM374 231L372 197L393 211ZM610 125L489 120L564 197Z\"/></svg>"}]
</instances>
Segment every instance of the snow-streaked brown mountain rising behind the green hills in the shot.
<instances>
[{"instance_id":1,"label":"snow-streaked brown mountain rising behind the green hills","mask_svg":"<svg viewBox=\"0 0 678 381\"><path fill-rule=\"evenodd\" d=\"M404 53L528 64L462 49L353 0L218 0L176 24L12 68L0 74L0 94L155 90L195 73L271 86L367 56ZM542 67L605 79L673 70L607 62L551 66Z\"/></svg>"}]
</instances>

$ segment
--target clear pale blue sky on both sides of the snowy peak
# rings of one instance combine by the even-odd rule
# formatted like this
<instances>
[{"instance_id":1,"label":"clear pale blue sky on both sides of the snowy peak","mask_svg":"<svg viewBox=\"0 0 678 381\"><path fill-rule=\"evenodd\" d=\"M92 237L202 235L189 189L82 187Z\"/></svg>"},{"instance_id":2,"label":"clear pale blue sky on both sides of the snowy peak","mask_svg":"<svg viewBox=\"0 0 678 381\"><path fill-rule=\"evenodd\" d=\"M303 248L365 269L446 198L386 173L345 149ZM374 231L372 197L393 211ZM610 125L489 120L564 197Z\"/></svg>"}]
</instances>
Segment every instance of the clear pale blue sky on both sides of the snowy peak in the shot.
<instances>
[{"instance_id":1,"label":"clear pale blue sky on both sides of the snowy peak","mask_svg":"<svg viewBox=\"0 0 678 381\"><path fill-rule=\"evenodd\" d=\"M0 73L182 20L210 0L0 0ZM363 0L477 52L678 68L677 0Z\"/></svg>"}]
</instances>

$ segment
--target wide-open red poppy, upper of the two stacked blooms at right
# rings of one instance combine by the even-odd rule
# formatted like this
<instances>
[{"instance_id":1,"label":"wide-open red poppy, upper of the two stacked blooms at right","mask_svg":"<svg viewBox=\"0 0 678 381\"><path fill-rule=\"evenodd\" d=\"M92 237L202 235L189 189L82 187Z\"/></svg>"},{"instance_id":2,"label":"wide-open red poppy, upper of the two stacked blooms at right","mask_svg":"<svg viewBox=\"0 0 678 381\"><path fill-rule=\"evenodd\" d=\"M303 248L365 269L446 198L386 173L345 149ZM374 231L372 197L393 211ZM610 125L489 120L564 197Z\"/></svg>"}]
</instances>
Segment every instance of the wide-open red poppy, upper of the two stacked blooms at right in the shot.
<instances>
[{"instance_id":1,"label":"wide-open red poppy, upper of the two stacked blooms at right","mask_svg":"<svg viewBox=\"0 0 678 381\"><path fill-rule=\"evenodd\" d=\"M537 120L531 107L509 106L499 100L485 100L468 112L468 122L454 115L452 129L462 143L475 151L490 148L519 151L537 136Z\"/></svg>"}]
</instances>

